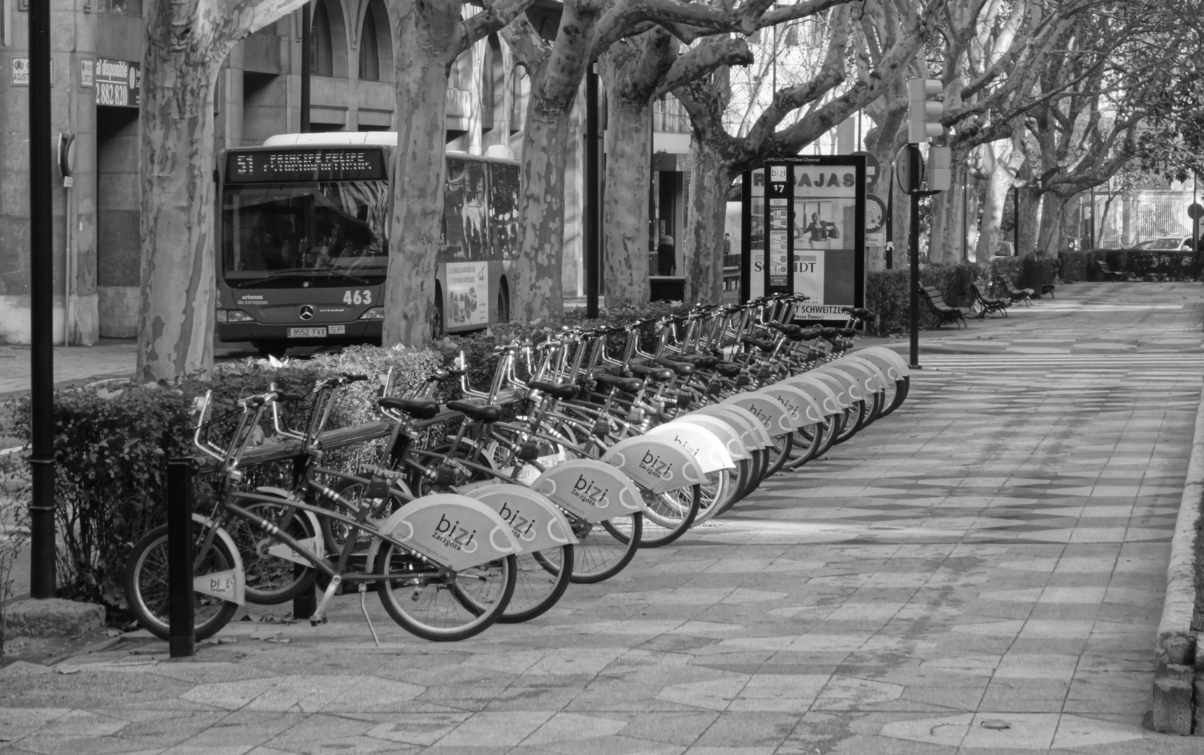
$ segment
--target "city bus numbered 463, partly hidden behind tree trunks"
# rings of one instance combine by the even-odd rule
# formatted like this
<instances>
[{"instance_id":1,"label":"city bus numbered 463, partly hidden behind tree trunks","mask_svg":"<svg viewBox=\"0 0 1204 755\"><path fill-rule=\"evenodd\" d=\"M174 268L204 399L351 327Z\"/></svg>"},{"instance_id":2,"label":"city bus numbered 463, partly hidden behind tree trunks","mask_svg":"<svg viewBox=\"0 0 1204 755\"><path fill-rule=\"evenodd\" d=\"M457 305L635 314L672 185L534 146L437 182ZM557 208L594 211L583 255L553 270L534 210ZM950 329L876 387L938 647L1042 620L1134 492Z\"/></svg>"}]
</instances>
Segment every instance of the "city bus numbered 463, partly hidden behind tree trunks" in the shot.
<instances>
[{"instance_id":1,"label":"city bus numbered 463, partly hidden behind tree trunks","mask_svg":"<svg viewBox=\"0 0 1204 755\"><path fill-rule=\"evenodd\" d=\"M380 342L396 143L391 131L287 134L220 153L219 341L264 355ZM435 335L508 320L518 252L518 161L445 160Z\"/></svg>"}]
</instances>

